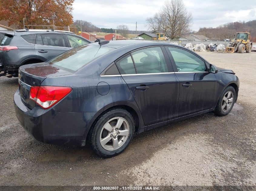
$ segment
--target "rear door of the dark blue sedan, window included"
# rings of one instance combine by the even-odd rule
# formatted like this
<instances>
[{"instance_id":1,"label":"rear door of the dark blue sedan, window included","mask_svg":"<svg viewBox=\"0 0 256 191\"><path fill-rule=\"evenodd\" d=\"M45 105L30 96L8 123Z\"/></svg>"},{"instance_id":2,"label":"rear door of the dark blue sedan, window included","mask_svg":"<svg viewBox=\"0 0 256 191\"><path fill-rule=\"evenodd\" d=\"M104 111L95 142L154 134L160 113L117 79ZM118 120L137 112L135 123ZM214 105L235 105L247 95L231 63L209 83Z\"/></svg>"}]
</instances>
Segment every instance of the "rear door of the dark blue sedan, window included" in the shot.
<instances>
[{"instance_id":1,"label":"rear door of the dark blue sedan, window included","mask_svg":"<svg viewBox=\"0 0 256 191\"><path fill-rule=\"evenodd\" d=\"M167 58L164 47L157 46L133 51L116 61L146 126L176 116L179 85Z\"/></svg>"}]
</instances>

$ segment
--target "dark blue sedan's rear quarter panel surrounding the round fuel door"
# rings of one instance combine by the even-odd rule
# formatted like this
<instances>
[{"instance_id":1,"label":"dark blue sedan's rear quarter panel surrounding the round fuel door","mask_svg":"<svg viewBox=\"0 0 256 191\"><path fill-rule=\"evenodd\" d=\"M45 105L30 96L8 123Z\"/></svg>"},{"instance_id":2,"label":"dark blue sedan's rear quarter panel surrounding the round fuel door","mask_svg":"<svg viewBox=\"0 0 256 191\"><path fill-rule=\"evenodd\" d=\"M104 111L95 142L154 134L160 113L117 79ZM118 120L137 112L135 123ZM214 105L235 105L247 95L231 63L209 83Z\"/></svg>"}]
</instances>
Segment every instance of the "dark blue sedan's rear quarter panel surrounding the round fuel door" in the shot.
<instances>
[{"instance_id":1,"label":"dark blue sedan's rear quarter panel surrounding the round fuel door","mask_svg":"<svg viewBox=\"0 0 256 191\"><path fill-rule=\"evenodd\" d=\"M97 91L99 82L109 84L106 95ZM103 112L116 105L127 105L138 111L138 106L121 76L99 77L98 75L66 75L46 78L43 85L71 87L72 91L54 106L57 112Z\"/></svg>"}]
</instances>

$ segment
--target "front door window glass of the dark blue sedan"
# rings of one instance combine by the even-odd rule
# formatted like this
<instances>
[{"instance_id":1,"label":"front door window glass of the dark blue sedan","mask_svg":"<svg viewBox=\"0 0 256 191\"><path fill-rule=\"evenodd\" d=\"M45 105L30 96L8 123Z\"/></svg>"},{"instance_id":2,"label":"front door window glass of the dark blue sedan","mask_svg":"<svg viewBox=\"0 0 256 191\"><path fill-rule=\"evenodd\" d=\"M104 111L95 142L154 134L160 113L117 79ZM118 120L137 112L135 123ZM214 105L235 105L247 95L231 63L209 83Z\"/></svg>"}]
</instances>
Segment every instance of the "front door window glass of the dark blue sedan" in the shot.
<instances>
[{"instance_id":1,"label":"front door window glass of the dark blue sedan","mask_svg":"<svg viewBox=\"0 0 256 191\"><path fill-rule=\"evenodd\" d=\"M187 50L168 47L175 61L178 72L206 72L203 60L188 52Z\"/></svg>"}]
</instances>

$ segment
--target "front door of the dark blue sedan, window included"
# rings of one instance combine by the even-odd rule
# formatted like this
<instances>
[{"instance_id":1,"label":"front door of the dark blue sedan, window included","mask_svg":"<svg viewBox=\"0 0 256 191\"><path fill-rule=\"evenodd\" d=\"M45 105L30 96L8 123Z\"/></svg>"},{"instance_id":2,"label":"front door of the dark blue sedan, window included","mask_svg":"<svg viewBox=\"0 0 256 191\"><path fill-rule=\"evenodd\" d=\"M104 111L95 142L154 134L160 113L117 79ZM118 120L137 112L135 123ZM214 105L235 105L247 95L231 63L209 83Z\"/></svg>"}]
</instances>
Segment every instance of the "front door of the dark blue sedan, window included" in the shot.
<instances>
[{"instance_id":1,"label":"front door of the dark blue sedan, window included","mask_svg":"<svg viewBox=\"0 0 256 191\"><path fill-rule=\"evenodd\" d=\"M180 82L178 116L211 109L215 104L217 79L203 59L181 47L166 47Z\"/></svg>"}]
</instances>

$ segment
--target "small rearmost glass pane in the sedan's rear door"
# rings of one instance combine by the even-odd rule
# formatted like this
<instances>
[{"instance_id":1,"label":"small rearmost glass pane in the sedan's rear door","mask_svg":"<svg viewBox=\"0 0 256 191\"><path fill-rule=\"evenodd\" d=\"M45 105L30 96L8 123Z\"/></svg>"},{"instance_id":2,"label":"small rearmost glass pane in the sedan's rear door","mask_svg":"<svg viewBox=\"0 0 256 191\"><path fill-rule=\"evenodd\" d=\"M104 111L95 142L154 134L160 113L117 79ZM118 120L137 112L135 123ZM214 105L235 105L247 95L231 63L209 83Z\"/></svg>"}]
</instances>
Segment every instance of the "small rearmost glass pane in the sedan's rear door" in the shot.
<instances>
[{"instance_id":1,"label":"small rearmost glass pane in the sedan's rear door","mask_svg":"<svg viewBox=\"0 0 256 191\"><path fill-rule=\"evenodd\" d=\"M119 68L119 72L121 74L136 74L130 54L117 61L116 65Z\"/></svg>"}]
</instances>

